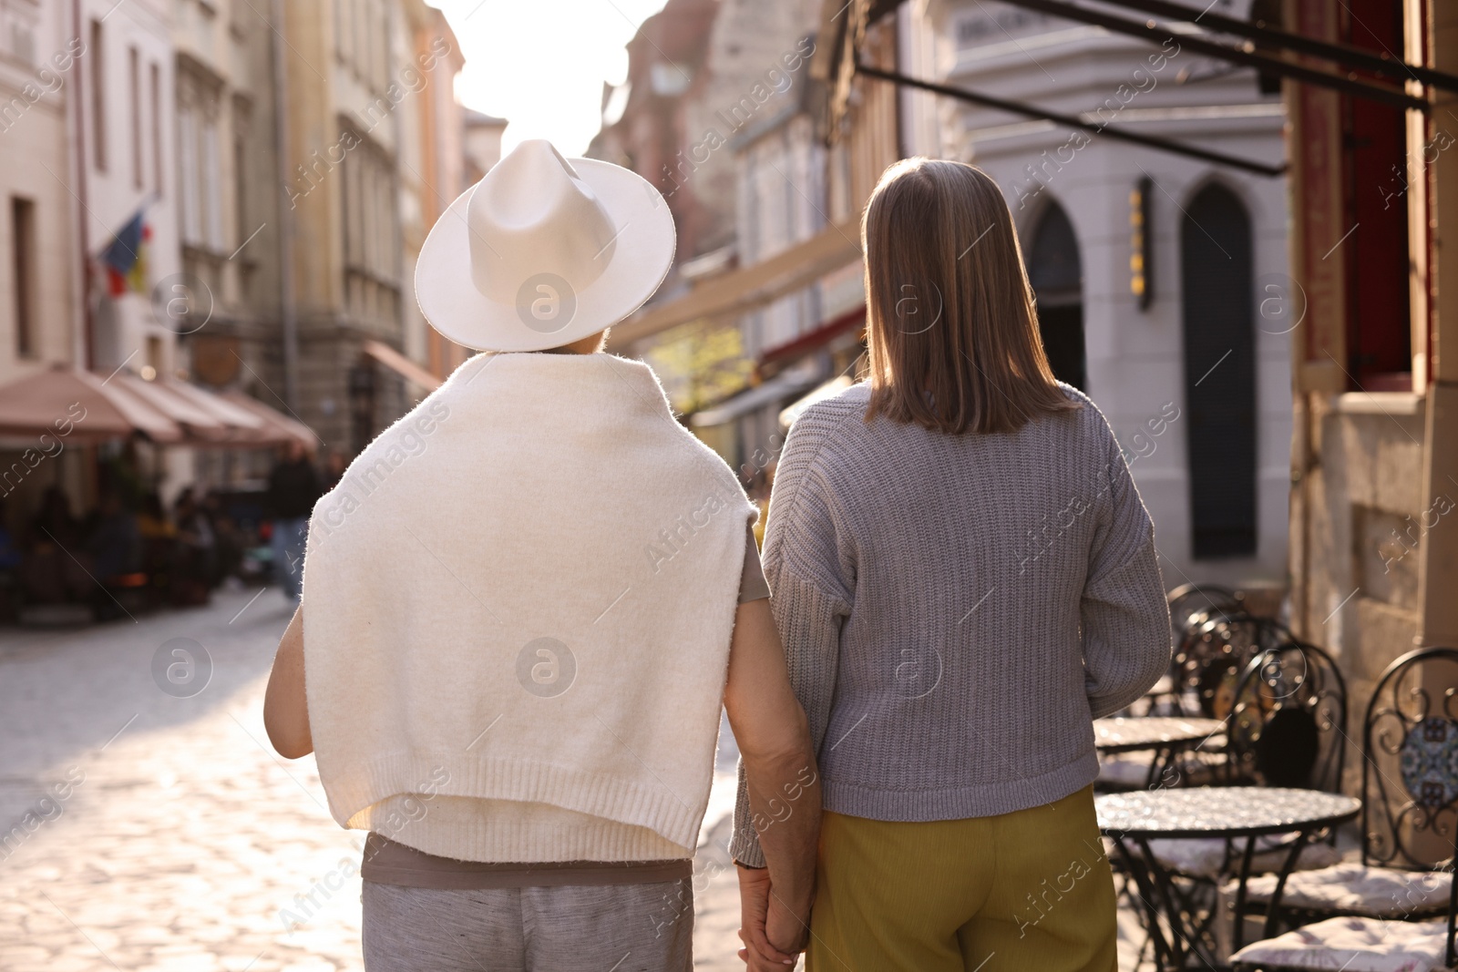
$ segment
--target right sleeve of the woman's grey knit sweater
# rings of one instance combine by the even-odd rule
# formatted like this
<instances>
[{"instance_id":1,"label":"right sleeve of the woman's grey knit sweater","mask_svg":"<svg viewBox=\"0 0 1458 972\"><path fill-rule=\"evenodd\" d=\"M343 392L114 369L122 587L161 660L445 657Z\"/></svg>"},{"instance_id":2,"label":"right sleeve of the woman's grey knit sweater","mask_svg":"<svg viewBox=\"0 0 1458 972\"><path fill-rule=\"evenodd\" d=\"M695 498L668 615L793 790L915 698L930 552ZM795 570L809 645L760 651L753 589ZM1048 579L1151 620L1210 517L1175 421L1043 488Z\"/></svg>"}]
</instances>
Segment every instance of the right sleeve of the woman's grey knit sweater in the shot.
<instances>
[{"instance_id":1,"label":"right sleeve of the woman's grey knit sweater","mask_svg":"<svg viewBox=\"0 0 1458 972\"><path fill-rule=\"evenodd\" d=\"M1104 434L1104 517L1089 551L1080 605L1085 686L1094 718L1111 716L1147 692L1168 670L1172 650L1155 528L1107 426Z\"/></svg>"}]
</instances>

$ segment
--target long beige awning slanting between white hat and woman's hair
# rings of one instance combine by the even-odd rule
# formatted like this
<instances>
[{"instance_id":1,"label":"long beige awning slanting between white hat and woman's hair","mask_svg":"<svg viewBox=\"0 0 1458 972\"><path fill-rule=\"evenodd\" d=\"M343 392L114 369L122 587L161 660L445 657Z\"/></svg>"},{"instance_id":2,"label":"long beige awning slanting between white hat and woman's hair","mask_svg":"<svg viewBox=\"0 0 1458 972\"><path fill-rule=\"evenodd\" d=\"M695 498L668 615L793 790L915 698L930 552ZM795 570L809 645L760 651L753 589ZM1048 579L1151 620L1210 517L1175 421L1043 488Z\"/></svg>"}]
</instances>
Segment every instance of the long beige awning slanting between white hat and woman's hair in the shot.
<instances>
[{"instance_id":1,"label":"long beige awning slanting between white hat and woman's hair","mask_svg":"<svg viewBox=\"0 0 1458 972\"><path fill-rule=\"evenodd\" d=\"M859 224L831 224L770 259L709 277L682 297L647 307L614 326L611 341L621 347L690 321L745 313L859 259Z\"/></svg>"}]
</instances>

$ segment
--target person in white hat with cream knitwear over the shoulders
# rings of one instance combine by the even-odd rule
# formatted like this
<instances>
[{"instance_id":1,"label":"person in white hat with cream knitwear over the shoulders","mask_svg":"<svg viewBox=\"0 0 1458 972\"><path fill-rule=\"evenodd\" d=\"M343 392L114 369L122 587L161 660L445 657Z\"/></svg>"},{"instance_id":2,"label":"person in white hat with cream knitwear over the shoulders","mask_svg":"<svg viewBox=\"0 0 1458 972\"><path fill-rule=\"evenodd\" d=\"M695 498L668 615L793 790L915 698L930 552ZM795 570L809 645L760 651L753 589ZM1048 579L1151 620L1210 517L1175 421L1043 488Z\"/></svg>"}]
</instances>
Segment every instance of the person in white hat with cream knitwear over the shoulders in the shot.
<instances>
[{"instance_id":1,"label":"person in white hat with cream knitwear over the shoulders","mask_svg":"<svg viewBox=\"0 0 1458 972\"><path fill-rule=\"evenodd\" d=\"M690 969L720 704L768 864L741 870L741 955L803 946L819 775L757 513L602 353L674 245L649 182L525 141L421 248L427 321L488 354L315 506L264 708L367 831L370 972Z\"/></svg>"}]
</instances>

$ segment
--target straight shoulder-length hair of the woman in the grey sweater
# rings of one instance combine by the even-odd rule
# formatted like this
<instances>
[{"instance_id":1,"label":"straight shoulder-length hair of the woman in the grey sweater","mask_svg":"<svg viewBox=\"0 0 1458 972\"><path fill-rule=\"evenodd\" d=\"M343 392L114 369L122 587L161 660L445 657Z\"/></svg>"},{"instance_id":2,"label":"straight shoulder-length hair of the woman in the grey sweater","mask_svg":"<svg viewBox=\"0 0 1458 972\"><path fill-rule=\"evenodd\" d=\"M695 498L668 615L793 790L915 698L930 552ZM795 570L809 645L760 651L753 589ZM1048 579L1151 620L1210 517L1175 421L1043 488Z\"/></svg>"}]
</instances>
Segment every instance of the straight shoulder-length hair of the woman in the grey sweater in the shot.
<instances>
[{"instance_id":1,"label":"straight shoulder-length hair of the woman in the grey sweater","mask_svg":"<svg viewBox=\"0 0 1458 972\"><path fill-rule=\"evenodd\" d=\"M1079 407L1042 351L1018 233L991 176L962 162L903 159L872 191L860 242L868 421L1000 433Z\"/></svg>"}]
</instances>

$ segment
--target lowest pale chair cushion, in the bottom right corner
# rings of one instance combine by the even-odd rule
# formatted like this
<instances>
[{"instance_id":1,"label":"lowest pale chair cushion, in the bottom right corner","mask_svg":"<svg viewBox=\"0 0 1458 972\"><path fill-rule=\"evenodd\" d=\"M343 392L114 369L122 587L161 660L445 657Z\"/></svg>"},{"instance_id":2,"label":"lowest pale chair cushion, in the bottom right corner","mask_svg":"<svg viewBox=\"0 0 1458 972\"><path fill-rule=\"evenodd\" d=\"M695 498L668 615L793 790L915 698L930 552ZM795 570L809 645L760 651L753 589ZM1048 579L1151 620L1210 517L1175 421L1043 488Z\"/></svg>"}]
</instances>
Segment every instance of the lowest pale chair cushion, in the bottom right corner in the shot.
<instances>
[{"instance_id":1,"label":"lowest pale chair cushion, in the bottom right corner","mask_svg":"<svg viewBox=\"0 0 1458 972\"><path fill-rule=\"evenodd\" d=\"M1448 921L1327 918L1274 938L1252 941L1232 963L1344 972L1445 969Z\"/></svg>"}]
</instances>

